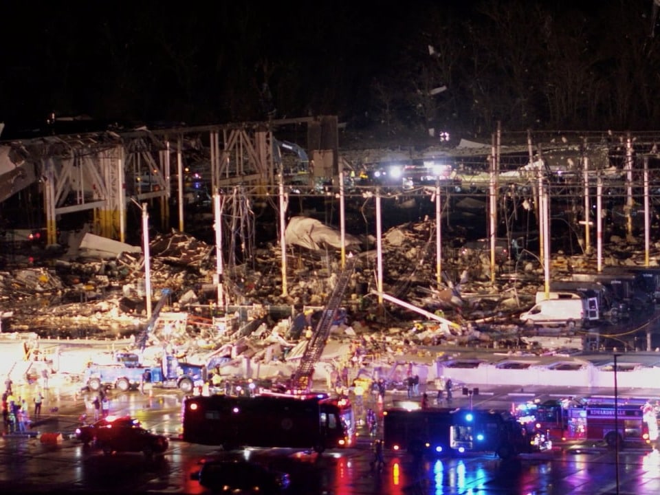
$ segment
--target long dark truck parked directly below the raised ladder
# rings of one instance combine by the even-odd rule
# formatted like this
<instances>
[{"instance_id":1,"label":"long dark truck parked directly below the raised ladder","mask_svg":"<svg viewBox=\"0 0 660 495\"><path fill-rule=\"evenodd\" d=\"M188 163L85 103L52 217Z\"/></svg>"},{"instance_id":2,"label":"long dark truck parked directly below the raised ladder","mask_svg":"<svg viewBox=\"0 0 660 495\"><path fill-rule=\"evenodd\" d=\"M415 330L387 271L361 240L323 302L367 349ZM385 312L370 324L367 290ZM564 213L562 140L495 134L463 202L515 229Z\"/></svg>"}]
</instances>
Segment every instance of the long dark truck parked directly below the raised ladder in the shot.
<instances>
[{"instance_id":1,"label":"long dark truck parked directly below the raised ladder","mask_svg":"<svg viewBox=\"0 0 660 495\"><path fill-rule=\"evenodd\" d=\"M326 394L253 397L187 397L182 406L181 439L218 445L313 449L345 448L355 442L351 402Z\"/></svg>"}]
</instances>

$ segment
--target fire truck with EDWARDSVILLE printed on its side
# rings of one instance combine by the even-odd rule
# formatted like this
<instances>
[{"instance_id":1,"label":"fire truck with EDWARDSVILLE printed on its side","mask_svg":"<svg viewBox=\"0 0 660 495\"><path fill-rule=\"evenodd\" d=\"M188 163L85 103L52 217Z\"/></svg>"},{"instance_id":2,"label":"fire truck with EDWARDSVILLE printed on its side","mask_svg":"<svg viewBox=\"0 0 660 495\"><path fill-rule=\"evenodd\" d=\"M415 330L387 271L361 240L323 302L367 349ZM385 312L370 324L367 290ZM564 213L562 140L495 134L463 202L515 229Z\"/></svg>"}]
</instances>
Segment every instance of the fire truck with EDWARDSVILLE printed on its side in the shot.
<instances>
[{"instance_id":1,"label":"fire truck with EDWARDSVILLE printed on its side","mask_svg":"<svg viewBox=\"0 0 660 495\"><path fill-rule=\"evenodd\" d=\"M604 441L610 447L617 442L623 445L652 441L643 401L636 399L621 398L617 408L613 399L605 397L548 399L519 406L517 410L522 423L547 432L553 441Z\"/></svg>"}]
</instances>

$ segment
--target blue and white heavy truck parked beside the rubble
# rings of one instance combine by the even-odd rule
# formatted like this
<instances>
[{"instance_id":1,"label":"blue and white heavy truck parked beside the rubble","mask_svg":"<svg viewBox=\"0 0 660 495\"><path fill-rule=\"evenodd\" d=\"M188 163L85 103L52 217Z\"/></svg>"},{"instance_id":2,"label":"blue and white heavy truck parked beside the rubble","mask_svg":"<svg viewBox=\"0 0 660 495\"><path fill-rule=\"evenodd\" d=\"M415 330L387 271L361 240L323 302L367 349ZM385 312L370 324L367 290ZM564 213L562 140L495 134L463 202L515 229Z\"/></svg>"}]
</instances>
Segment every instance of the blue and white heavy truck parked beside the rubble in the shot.
<instances>
[{"instance_id":1,"label":"blue and white heavy truck parked beside the rubble","mask_svg":"<svg viewBox=\"0 0 660 495\"><path fill-rule=\"evenodd\" d=\"M138 388L143 380L153 386L179 388L184 393L191 393L206 381L206 366L182 363L175 356L165 355L161 366L126 366L124 361L118 364L89 364L83 377L83 383L91 391L106 387L125 392Z\"/></svg>"}]
</instances>

